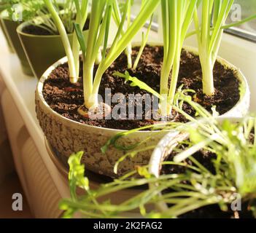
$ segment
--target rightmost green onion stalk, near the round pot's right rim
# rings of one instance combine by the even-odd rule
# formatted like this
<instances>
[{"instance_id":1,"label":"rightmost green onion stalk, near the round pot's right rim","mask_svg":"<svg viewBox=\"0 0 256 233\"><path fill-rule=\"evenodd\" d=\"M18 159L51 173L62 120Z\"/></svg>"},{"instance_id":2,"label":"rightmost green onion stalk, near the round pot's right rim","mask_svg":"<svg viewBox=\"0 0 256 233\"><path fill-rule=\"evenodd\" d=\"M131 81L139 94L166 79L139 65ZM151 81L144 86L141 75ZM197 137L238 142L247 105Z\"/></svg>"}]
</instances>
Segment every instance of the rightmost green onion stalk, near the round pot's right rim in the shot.
<instances>
[{"instance_id":1,"label":"rightmost green onion stalk, near the round pot's right rim","mask_svg":"<svg viewBox=\"0 0 256 233\"><path fill-rule=\"evenodd\" d=\"M234 0L205 0L202 5L201 28L197 12L194 14L195 31L198 36L198 50L203 74L203 93L214 95L213 68L220 49L223 24L228 17ZM213 15L213 20L212 20ZM211 28L211 23L213 23Z\"/></svg>"}]
</instances>

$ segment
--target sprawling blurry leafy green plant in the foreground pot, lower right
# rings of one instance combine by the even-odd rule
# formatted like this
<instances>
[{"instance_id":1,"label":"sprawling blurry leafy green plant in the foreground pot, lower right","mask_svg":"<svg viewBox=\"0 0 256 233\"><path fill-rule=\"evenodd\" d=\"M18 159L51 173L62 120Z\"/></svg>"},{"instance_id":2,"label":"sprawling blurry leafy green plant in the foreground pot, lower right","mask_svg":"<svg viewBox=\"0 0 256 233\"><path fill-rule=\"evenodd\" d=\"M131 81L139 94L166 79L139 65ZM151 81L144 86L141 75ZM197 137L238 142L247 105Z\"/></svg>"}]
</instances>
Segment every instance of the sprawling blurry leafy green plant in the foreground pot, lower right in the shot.
<instances>
[{"instance_id":1,"label":"sprawling blurry leafy green plant in the foreground pot, lower right","mask_svg":"<svg viewBox=\"0 0 256 233\"><path fill-rule=\"evenodd\" d=\"M190 103L199 116L208 118L198 120L185 114L192 120L189 124L158 125L158 129L172 128L183 134L187 133L189 140L184 140L183 137L180 141L182 148L177 146L174 149L177 152L174 160L163 162L165 166L185 167L184 172L162 174L156 178L149 173L147 166L137 167L122 178L103 184L99 189L90 190L88 178L83 176L85 167L79 163L82 154L74 154L69 161L76 162L76 166L71 165L69 173L72 199L63 200L60 204L61 209L66 210L64 217L70 218L78 211L87 218L120 218L127 216L130 210L139 209L141 216L146 218L175 218L208 205L219 205L220 210L225 212L238 198L243 203L249 203L248 210L256 217L253 204L256 196L256 118L247 117L240 122L225 120L219 123L204 108L193 103L184 91L179 91L174 98L174 108L180 113L183 113L180 106L184 102ZM116 141L114 144L123 149ZM187 149L184 149L184 145L187 145ZM128 151L128 154L132 155L134 152L133 156L136 156L136 146L131 147L131 153ZM212 157L214 170L209 170L193 157L196 151L202 149L216 155ZM82 183L87 183L86 189ZM75 184L89 193L76 197ZM150 189L146 189L145 185L149 185ZM98 202L109 197L109 194L114 197L118 191L135 187L139 188L138 193L124 202L113 203L108 198L104 202ZM152 204L160 203L165 205L162 211L152 210ZM236 217L238 216L237 211Z\"/></svg>"}]
</instances>

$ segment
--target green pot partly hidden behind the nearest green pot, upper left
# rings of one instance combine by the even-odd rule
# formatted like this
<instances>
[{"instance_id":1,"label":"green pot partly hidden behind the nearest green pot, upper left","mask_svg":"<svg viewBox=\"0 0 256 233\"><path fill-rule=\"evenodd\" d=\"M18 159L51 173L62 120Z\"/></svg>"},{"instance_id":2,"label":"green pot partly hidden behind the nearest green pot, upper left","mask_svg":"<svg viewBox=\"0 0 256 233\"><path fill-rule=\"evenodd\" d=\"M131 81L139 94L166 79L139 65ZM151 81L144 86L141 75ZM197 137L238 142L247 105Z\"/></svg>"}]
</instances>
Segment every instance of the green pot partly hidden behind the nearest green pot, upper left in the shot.
<instances>
[{"instance_id":1,"label":"green pot partly hidden behind the nearest green pot, upper left","mask_svg":"<svg viewBox=\"0 0 256 233\"><path fill-rule=\"evenodd\" d=\"M26 58L26 54L23 50L23 47L20 43L20 39L18 37L18 33L16 31L20 23L9 20L7 18L6 10L1 12L0 17L1 17L2 26L4 28L5 33L7 34L9 43L11 44L12 48L15 50L16 54L18 55L23 73L29 76L33 76L33 72L31 71L31 68L28 63L28 59Z\"/></svg>"}]
</instances>

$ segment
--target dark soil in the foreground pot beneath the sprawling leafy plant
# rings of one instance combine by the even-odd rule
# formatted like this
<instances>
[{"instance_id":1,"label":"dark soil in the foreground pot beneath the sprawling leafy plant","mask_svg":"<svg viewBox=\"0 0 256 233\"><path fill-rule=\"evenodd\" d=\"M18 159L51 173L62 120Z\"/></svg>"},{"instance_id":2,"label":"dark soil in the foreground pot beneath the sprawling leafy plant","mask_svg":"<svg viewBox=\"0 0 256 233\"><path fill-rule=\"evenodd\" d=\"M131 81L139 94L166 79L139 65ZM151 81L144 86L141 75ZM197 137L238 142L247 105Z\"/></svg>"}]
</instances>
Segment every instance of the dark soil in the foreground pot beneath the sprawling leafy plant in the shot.
<instances>
[{"instance_id":1,"label":"dark soil in the foreground pot beneath the sprawling leafy plant","mask_svg":"<svg viewBox=\"0 0 256 233\"><path fill-rule=\"evenodd\" d=\"M252 141L255 138L254 135L252 135ZM179 145L179 149L185 150L187 146ZM171 154L168 156L166 161L173 161L174 157L177 155L177 151L172 151ZM214 165L212 163L212 159L216 159L216 154L201 150L193 154L193 157L201 163L204 167L206 167L207 170L209 170L212 174L216 174ZM185 162L187 165L193 165L193 163L190 161L190 159L186 159ZM161 174L182 174L185 173L185 170L187 168L183 166L176 166L176 165L163 165L161 169ZM174 190L167 189L164 192L169 193ZM252 203L250 203L252 206ZM253 203L253 206L255 206L256 203ZM220 209L219 205L207 205L203 208L198 208L196 210L190 211L188 213L183 214L182 216L179 216L179 218L254 218L253 213L251 210L249 210L249 203L244 202L241 205L241 211L234 212L229 207L228 211L222 211Z\"/></svg>"}]
</instances>

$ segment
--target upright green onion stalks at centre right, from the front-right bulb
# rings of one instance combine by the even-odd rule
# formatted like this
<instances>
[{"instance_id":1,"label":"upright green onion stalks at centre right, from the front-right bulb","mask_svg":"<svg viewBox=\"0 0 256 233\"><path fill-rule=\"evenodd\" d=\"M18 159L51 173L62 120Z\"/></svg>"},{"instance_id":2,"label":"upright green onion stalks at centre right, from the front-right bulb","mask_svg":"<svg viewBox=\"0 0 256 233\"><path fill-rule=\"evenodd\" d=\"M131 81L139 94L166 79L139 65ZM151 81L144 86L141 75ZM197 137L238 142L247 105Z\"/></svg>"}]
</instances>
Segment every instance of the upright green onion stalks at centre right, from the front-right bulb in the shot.
<instances>
[{"instance_id":1,"label":"upright green onion stalks at centre right, from the front-right bulb","mask_svg":"<svg viewBox=\"0 0 256 233\"><path fill-rule=\"evenodd\" d=\"M163 95L164 98L160 101L160 114L162 116L171 115L171 106L174 103L177 89L182 44L193 19L196 2L196 0L162 0L164 47L163 67L160 77L160 95ZM171 84L168 89L171 68Z\"/></svg>"}]
</instances>

